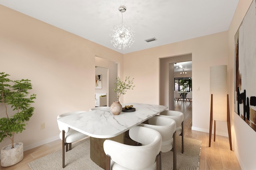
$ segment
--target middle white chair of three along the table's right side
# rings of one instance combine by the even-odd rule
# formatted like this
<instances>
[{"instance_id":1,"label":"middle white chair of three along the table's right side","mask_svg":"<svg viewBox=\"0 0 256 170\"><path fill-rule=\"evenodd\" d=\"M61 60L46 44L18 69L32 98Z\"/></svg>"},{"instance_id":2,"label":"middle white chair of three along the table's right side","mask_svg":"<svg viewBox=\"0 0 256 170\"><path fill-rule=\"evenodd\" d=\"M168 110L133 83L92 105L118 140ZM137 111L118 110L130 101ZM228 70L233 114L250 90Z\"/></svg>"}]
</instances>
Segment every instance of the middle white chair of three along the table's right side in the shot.
<instances>
[{"instance_id":1,"label":"middle white chair of three along the table's right side","mask_svg":"<svg viewBox=\"0 0 256 170\"><path fill-rule=\"evenodd\" d=\"M173 169L176 170L176 122L174 119L155 115L148 119L148 124L141 123L139 126L155 129L162 135L161 152L173 150ZM162 170L162 160L160 152L160 169Z\"/></svg>"}]
</instances>

